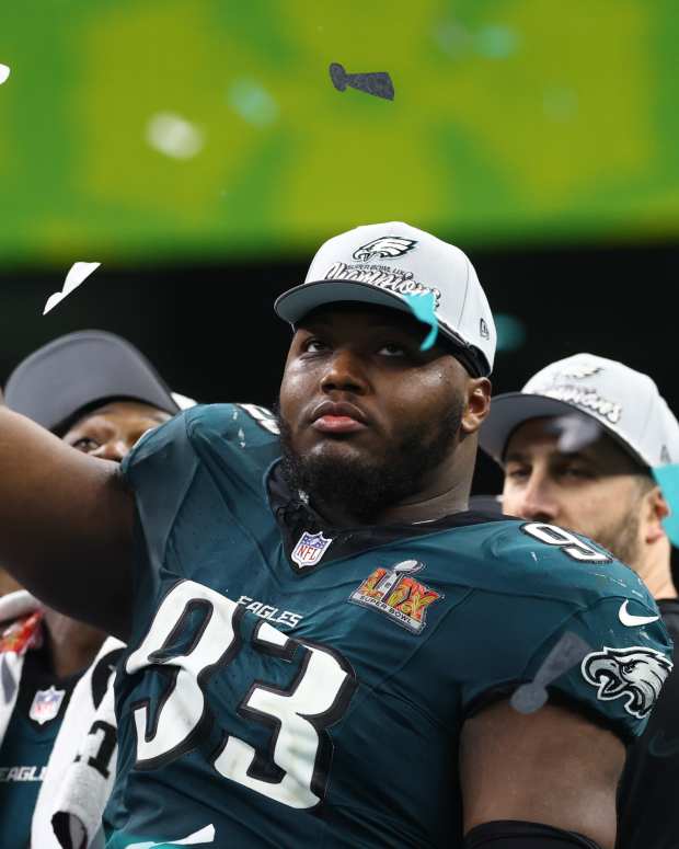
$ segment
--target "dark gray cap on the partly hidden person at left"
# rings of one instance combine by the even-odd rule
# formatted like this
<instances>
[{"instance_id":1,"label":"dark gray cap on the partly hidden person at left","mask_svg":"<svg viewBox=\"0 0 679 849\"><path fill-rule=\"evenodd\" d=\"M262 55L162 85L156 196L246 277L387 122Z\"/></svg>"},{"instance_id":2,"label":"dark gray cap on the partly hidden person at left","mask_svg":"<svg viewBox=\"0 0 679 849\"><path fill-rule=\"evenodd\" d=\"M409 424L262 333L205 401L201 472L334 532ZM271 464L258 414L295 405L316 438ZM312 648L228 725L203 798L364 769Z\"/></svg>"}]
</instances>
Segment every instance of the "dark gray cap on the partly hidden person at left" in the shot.
<instances>
[{"instance_id":1,"label":"dark gray cap on the partly hidden person at left","mask_svg":"<svg viewBox=\"0 0 679 849\"><path fill-rule=\"evenodd\" d=\"M141 401L174 415L170 388L140 351L103 330L82 330L43 345L8 378L7 405L48 431L112 399Z\"/></svg>"}]
</instances>

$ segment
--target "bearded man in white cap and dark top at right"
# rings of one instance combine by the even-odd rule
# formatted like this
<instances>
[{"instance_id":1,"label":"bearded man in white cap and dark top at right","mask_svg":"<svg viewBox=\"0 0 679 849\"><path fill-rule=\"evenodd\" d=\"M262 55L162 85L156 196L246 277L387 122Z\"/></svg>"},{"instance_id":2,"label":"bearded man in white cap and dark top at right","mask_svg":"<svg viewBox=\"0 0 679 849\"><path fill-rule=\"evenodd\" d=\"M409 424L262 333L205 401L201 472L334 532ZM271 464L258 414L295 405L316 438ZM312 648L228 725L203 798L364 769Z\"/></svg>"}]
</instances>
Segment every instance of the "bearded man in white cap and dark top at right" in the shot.
<instances>
[{"instance_id":1,"label":"bearded man in white cap and dark top at right","mask_svg":"<svg viewBox=\"0 0 679 849\"><path fill-rule=\"evenodd\" d=\"M644 580L677 644L679 600L661 524L668 505L652 470L679 461L679 424L653 380L622 363L576 354L541 369L520 392L494 398L480 441L505 471L504 512L610 549ZM633 624L640 617L625 606L620 620ZM628 755L619 849L677 846L678 785L679 677L672 675Z\"/></svg>"}]
</instances>

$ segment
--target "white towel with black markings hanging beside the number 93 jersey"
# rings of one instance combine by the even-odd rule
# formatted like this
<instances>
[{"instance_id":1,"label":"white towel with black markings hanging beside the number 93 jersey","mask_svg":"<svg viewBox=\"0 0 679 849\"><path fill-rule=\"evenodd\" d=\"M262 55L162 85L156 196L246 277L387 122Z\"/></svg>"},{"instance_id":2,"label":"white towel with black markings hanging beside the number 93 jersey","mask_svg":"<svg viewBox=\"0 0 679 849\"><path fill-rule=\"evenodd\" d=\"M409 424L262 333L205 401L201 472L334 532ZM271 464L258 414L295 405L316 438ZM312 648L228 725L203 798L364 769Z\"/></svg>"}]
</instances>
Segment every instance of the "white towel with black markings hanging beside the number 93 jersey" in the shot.
<instances>
[{"instance_id":1,"label":"white towel with black markings hanging beside the number 93 jersey","mask_svg":"<svg viewBox=\"0 0 679 849\"><path fill-rule=\"evenodd\" d=\"M34 849L87 849L100 829L115 776L113 678L123 649L107 638L73 688L33 814Z\"/></svg>"}]
</instances>

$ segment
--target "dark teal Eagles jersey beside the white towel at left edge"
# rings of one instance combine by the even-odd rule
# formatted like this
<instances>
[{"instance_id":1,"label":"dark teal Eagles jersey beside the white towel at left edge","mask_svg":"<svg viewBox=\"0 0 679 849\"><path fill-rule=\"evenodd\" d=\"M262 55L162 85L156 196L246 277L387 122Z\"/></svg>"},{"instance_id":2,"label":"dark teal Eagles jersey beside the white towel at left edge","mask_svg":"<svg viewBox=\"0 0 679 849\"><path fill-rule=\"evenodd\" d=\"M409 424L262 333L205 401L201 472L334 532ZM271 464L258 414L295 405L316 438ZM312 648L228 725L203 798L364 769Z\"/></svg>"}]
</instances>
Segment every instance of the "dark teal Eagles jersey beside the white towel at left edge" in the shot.
<instances>
[{"instance_id":1,"label":"dark teal Eagles jersey beside the white towel at left edge","mask_svg":"<svg viewBox=\"0 0 679 849\"><path fill-rule=\"evenodd\" d=\"M42 652L24 661L16 703L0 746L0 846L27 849L43 784L77 677L46 672Z\"/></svg>"}]
</instances>

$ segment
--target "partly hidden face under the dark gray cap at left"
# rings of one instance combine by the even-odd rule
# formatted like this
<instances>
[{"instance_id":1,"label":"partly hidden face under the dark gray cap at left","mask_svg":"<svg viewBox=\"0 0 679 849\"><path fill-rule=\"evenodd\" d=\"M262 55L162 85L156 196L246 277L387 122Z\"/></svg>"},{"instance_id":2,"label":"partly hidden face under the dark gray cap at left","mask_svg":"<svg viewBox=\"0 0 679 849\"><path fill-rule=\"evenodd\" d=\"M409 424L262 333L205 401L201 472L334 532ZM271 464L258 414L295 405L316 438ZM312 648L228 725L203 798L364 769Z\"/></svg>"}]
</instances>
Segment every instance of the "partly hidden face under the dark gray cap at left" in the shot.
<instances>
[{"instance_id":1,"label":"partly hidden face under the dark gray cap at left","mask_svg":"<svg viewBox=\"0 0 679 849\"><path fill-rule=\"evenodd\" d=\"M143 433L170 417L150 404L113 401L76 422L64 441L92 457L120 462Z\"/></svg>"}]
</instances>

